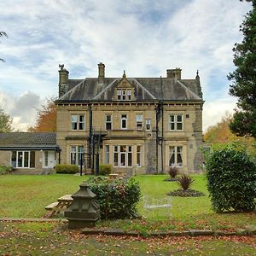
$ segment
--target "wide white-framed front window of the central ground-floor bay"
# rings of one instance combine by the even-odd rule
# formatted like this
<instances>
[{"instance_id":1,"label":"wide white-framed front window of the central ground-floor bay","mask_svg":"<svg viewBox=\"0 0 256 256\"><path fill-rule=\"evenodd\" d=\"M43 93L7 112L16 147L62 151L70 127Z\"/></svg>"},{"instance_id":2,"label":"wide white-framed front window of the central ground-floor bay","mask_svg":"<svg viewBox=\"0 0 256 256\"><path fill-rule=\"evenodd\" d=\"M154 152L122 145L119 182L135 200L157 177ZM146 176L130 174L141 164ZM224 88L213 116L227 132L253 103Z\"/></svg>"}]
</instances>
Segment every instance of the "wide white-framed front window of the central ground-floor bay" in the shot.
<instances>
[{"instance_id":1,"label":"wide white-framed front window of the central ground-floor bay","mask_svg":"<svg viewBox=\"0 0 256 256\"><path fill-rule=\"evenodd\" d=\"M126 145L113 146L113 166L132 166L132 147Z\"/></svg>"}]
</instances>

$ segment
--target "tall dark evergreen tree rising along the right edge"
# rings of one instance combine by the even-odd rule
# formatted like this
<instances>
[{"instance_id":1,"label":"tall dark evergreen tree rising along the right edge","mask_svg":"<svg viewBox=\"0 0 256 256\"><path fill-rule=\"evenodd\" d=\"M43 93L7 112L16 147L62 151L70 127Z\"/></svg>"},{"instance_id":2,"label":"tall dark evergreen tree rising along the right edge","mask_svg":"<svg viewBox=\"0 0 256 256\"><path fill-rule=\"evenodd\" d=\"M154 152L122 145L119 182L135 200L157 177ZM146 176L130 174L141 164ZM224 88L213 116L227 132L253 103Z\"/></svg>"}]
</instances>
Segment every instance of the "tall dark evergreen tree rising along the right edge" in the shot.
<instances>
[{"instance_id":1,"label":"tall dark evergreen tree rising along the right edge","mask_svg":"<svg viewBox=\"0 0 256 256\"><path fill-rule=\"evenodd\" d=\"M233 49L236 70L228 76L233 81L230 95L238 97L230 130L237 136L256 138L256 0L247 2L252 3L253 9L240 26L243 40Z\"/></svg>"}]
</instances>

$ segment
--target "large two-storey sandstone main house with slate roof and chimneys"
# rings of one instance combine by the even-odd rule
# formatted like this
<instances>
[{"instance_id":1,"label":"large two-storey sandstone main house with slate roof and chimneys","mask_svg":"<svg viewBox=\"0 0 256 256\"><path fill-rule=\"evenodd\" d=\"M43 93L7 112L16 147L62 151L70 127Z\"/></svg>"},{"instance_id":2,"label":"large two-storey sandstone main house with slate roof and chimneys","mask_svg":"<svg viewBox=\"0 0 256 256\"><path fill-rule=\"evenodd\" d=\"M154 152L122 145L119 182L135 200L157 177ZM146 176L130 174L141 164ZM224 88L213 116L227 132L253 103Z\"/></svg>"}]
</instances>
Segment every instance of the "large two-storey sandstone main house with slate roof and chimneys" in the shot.
<instances>
[{"instance_id":1,"label":"large two-storey sandstone main house with slate roof and chimneys","mask_svg":"<svg viewBox=\"0 0 256 256\"><path fill-rule=\"evenodd\" d=\"M78 164L82 152L98 152L100 163L131 174L201 172L202 93L200 79L68 79L60 66L56 143L61 163ZM93 148L93 149L92 149ZM85 165L85 163L84 163Z\"/></svg>"}]
</instances>

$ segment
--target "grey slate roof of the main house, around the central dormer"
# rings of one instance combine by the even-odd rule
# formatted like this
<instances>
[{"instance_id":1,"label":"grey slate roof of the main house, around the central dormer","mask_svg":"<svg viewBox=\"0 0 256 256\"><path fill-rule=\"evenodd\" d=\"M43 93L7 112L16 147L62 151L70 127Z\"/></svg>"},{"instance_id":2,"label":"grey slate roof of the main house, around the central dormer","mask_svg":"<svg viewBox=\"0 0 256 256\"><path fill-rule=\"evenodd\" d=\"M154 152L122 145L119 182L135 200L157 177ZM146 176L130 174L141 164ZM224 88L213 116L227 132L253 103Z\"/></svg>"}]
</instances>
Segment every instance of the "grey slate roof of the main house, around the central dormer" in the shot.
<instances>
[{"instance_id":1,"label":"grey slate roof of the main house, around the central dormer","mask_svg":"<svg viewBox=\"0 0 256 256\"><path fill-rule=\"evenodd\" d=\"M127 78L135 87L137 101L202 101L201 85L197 79ZM69 79L68 91L58 101L112 101L114 88L121 78L105 78L99 84L97 78ZM77 84L76 84L77 83ZM76 84L76 85L75 85Z\"/></svg>"}]
</instances>

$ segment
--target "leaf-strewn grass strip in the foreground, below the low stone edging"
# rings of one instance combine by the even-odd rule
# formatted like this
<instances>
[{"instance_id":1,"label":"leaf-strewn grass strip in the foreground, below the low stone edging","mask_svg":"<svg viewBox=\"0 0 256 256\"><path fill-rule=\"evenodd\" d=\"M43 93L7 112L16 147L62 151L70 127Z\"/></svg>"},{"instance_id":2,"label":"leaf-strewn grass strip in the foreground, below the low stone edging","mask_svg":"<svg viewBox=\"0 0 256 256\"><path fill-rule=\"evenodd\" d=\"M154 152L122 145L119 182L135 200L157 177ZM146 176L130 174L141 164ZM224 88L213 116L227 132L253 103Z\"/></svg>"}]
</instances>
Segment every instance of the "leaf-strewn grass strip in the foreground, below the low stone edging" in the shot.
<instances>
[{"instance_id":1,"label":"leaf-strewn grass strip in the foreground, below the low stone edging","mask_svg":"<svg viewBox=\"0 0 256 256\"><path fill-rule=\"evenodd\" d=\"M255 237L84 236L61 224L0 223L1 255L256 255Z\"/></svg>"}]
</instances>

